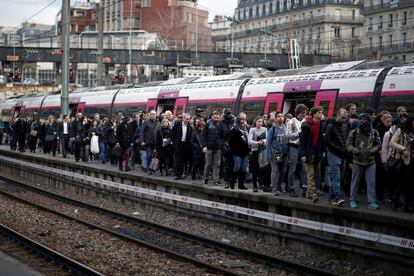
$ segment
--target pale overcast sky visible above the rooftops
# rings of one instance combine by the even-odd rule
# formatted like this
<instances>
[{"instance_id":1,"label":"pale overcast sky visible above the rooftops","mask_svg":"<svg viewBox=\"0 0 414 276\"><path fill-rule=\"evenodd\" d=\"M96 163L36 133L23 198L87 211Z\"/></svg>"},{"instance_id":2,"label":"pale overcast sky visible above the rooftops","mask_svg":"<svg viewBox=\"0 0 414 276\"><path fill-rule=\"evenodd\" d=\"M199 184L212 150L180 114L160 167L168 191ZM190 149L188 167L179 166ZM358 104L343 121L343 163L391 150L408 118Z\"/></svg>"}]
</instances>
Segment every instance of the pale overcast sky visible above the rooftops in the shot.
<instances>
[{"instance_id":1,"label":"pale overcast sky visible above the rooftops","mask_svg":"<svg viewBox=\"0 0 414 276\"><path fill-rule=\"evenodd\" d=\"M53 0L0 0L0 26L16 27L51 2ZM62 0L56 0L29 22L54 24L61 5ZM212 19L217 14L233 15L237 0L199 0L199 6L207 9Z\"/></svg>"}]
</instances>

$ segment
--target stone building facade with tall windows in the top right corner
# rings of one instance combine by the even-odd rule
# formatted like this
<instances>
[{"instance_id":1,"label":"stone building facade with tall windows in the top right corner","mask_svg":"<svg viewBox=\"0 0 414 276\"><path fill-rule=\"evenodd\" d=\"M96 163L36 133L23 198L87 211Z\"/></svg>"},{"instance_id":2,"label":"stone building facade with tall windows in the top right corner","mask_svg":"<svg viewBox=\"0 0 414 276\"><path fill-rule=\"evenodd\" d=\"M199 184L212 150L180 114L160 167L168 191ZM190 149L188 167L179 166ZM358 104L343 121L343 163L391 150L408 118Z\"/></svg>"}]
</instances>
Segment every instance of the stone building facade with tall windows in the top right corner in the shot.
<instances>
[{"instance_id":1,"label":"stone building facade with tall windows in the top right corner","mask_svg":"<svg viewBox=\"0 0 414 276\"><path fill-rule=\"evenodd\" d=\"M414 61L414 1L365 0L361 56Z\"/></svg>"}]
</instances>

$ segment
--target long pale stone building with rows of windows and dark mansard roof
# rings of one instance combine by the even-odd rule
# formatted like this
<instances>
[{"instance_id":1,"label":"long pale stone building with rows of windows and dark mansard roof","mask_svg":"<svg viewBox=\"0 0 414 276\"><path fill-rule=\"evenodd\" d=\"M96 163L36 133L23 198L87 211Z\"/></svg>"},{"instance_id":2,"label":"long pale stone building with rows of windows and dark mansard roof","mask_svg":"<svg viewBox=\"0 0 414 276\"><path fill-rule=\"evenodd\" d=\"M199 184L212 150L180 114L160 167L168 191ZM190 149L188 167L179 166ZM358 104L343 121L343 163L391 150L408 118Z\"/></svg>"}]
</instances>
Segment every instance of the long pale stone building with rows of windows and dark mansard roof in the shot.
<instances>
[{"instance_id":1,"label":"long pale stone building with rows of windows and dark mansard roof","mask_svg":"<svg viewBox=\"0 0 414 276\"><path fill-rule=\"evenodd\" d=\"M353 58L361 45L360 0L239 0L232 23L236 52L300 53Z\"/></svg>"}]
</instances>

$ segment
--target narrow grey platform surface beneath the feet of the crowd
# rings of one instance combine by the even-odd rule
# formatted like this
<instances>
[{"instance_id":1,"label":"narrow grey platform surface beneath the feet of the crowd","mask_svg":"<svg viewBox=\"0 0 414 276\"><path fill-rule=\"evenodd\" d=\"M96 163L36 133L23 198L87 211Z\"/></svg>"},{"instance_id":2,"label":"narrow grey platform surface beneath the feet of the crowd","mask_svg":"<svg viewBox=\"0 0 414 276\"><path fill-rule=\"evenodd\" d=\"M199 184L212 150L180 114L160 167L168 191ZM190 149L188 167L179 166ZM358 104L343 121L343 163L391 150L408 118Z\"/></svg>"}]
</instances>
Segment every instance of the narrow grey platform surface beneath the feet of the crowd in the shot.
<instances>
[{"instance_id":1,"label":"narrow grey platform surface beneath the feet of the crowd","mask_svg":"<svg viewBox=\"0 0 414 276\"><path fill-rule=\"evenodd\" d=\"M0 154L4 153L6 156L9 156L9 154L18 154L17 151L10 151L9 147L6 145L0 146ZM275 201L280 205L287 206L287 207L300 207L300 209L306 209L306 210L312 210L316 213L326 213L326 214L340 214L344 217L349 218L359 218L359 219L372 219L375 221L381 221L383 223L395 223L396 221L400 221L399 223L412 223L414 227L414 214L413 213L404 213L400 209L398 212L391 211L391 205L389 202L379 203L381 209L379 210L369 210L367 207L367 196L365 194L359 194L358 195L358 201L359 201L359 208L352 209L349 207L349 199L347 197L343 197L343 199L346 200L346 203L342 207L337 207L330 205L328 203L328 194L325 193L323 196L319 196L319 202L318 203L312 203L310 201L307 201L305 198L299 196L298 198L292 198L289 197L287 193L281 194L279 196L274 196L271 193L264 193L261 190L259 190L258 193L253 193L252 191L252 184L246 184L246 187L249 188L249 190L238 190L237 188L234 190L231 189L225 189L224 185L212 185L211 182L209 185L203 185L201 180L191 180L191 177L187 177L187 179L180 179L180 180L174 180L171 176L160 176L160 173L157 172L155 175L148 175L141 171L139 166L135 170L131 170L129 172L121 172L118 170L118 166L111 166L110 164L101 164L99 160L93 160L89 161L87 163L84 162L78 162L76 163L74 160L74 157L71 155L68 155L67 158L63 158L61 155L56 154L55 157L52 157L52 155L45 155L40 152L36 153L30 153L30 152L24 152L23 155L27 155L30 157L40 158L42 160L47 160L48 162L54 162L56 160L57 163L62 164L70 164L71 166L76 167L89 167L94 170L104 170L104 171L110 171L111 173L117 174L117 175L129 175L131 177L133 176L140 176L145 177L148 179L151 179L152 181L159 181L159 182L168 182L168 183L177 183L181 185L188 185L191 186L191 189L196 189L200 191L205 191L210 194L215 195L223 195L226 196L230 194L233 194L235 197L248 197L249 199L253 201ZM223 181L222 181L223 182ZM237 184L236 184L237 186ZM298 191L298 188L297 188ZM299 193L298 193L299 194Z\"/></svg>"}]
</instances>

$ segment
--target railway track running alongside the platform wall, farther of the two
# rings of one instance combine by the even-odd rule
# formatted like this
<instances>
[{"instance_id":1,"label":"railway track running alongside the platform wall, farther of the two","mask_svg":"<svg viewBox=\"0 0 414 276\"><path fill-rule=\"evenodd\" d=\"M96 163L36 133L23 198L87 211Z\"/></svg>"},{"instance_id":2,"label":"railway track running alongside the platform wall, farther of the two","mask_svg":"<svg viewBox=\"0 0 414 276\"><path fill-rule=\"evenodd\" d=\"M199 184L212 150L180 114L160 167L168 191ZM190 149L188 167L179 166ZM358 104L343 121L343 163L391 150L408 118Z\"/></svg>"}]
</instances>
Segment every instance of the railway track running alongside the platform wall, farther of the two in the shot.
<instances>
[{"instance_id":1,"label":"railway track running alongside the platform wall, farther of the two","mask_svg":"<svg viewBox=\"0 0 414 276\"><path fill-rule=\"evenodd\" d=\"M158 250L168 251L177 257L209 267L220 274L279 275L282 272L285 274L288 272L287 274L299 275L332 275L317 268L206 239L23 183L8 181L7 185L15 185L19 189L11 192L2 189L1 193L90 224L114 235L138 241ZM28 194L22 196L25 193Z\"/></svg>"}]
</instances>

